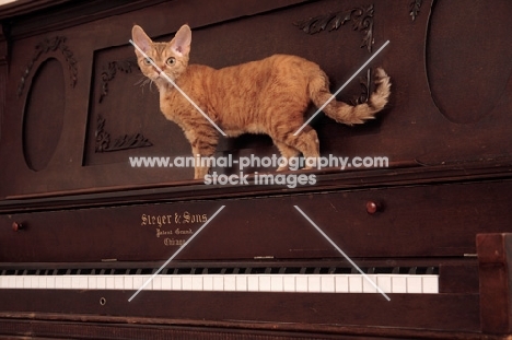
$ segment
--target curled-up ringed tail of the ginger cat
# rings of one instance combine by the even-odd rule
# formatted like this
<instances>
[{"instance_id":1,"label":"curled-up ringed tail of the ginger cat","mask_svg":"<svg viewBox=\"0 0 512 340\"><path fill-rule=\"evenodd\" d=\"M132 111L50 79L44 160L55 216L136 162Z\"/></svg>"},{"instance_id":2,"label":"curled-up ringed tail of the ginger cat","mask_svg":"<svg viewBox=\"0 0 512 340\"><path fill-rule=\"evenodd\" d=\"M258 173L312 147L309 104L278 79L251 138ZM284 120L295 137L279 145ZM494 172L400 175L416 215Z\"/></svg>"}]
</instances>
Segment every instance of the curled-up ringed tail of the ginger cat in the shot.
<instances>
[{"instance_id":1,"label":"curled-up ringed tail of the ginger cat","mask_svg":"<svg viewBox=\"0 0 512 340\"><path fill-rule=\"evenodd\" d=\"M374 118L374 115L386 106L391 94L391 81L386 72L377 68L374 78L375 91L370 95L366 103L352 106L333 99L323 108L323 112L337 122L350 126ZM327 75L323 71L317 72L311 79L309 91L310 97L316 107L322 107L333 96L329 92Z\"/></svg>"}]
</instances>

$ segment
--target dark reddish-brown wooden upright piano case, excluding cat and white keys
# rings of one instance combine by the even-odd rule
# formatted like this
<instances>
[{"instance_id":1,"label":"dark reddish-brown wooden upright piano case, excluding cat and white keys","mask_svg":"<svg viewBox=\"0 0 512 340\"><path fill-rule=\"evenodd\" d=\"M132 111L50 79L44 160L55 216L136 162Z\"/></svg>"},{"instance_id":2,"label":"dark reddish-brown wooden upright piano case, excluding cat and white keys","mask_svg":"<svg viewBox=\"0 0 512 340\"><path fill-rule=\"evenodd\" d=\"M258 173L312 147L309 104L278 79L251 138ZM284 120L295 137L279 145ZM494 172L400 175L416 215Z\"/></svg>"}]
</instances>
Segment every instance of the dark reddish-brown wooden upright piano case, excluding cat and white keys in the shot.
<instances>
[{"instance_id":1,"label":"dark reddish-brown wooden upright piano case, excluding cat and white keys","mask_svg":"<svg viewBox=\"0 0 512 340\"><path fill-rule=\"evenodd\" d=\"M151 274L178 249L168 273L353 270L296 208L365 271L439 277L437 294L389 301L228 290L142 290L129 301L137 288L0 284L0 338L510 339L511 15L507 0L0 7L0 279ZM389 40L338 95L364 102L371 70L383 67L393 86L377 119L312 122L322 155L388 163L284 173L315 179L298 186L256 183L254 172L274 174L264 166L244 169L238 185L194 180L190 167L132 166L130 157L190 153L156 89L141 86L129 43L133 24L168 40L184 23L193 63L292 54L317 62L333 91ZM216 156L276 153L269 138L242 136L221 139Z\"/></svg>"}]
</instances>

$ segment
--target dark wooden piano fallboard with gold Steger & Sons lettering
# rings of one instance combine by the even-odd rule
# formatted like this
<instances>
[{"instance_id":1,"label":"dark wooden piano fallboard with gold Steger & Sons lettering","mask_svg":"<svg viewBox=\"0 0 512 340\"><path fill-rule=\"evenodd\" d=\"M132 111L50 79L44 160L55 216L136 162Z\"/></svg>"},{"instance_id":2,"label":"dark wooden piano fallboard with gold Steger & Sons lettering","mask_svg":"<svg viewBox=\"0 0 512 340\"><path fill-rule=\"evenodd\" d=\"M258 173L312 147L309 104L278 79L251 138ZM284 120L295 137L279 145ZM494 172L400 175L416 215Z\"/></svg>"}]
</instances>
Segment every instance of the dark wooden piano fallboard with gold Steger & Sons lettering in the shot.
<instances>
[{"instance_id":1,"label":"dark wooden piano fallboard with gold Steger & Sons lettering","mask_svg":"<svg viewBox=\"0 0 512 340\"><path fill-rule=\"evenodd\" d=\"M243 188L238 188L242 190ZM153 190L158 192L158 189ZM123 202L0 215L2 262L463 257L512 221L512 181L331 189L251 198ZM368 204L379 207L372 213ZM196 235L220 207L225 208ZM12 225L21 225L13 232ZM456 237L454 237L456 235Z\"/></svg>"}]
</instances>

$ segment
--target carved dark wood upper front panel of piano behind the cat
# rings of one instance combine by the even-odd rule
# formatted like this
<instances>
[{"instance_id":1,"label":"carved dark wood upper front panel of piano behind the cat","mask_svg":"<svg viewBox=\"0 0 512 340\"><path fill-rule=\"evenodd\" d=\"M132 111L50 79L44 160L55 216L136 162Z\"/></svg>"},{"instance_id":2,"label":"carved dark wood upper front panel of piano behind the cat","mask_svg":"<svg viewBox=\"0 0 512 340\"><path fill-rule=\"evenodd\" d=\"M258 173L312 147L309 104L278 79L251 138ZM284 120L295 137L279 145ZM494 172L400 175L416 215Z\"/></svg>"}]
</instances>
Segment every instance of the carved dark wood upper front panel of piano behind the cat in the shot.
<instances>
[{"instance_id":1,"label":"carved dark wood upper front panel of piano behind the cat","mask_svg":"<svg viewBox=\"0 0 512 340\"><path fill-rule=\"evenodd\" d=\"M51 31L49 24L43 33L34 30L30 34L27 21L20 21L19 27L14 21L13 32L23 34L11 39L11 71L0 134L0 157L10 160L0 172L12 180L2 184L0 195L103 190L193 178L191 168L133 169L129 165L129 156L190 154L183 131L160 114L155 89L138 84L142 75L128 43L135 23L154 39L167 40L188 22L193 27L190 61L214 68L272 54L302 56L326 71L333 91L389 40L368 68L381 66L392 77L387 108L377 119L357 127L341 126L318 115L312 126L318 132L323 155L387 156L393 164L409 165L510 157L512 58L507 48L511 43L507 34L511 28L508 1L497 0L491 7L484 1L467 5L462 1L283 0L247 2L245 7L233 1L216 11L210 8L213 4L205 3L148 4L106 19L68 22L59 32ZM47 43L34 49L42 42ZM58 114L37 117L45 122L61 119L60 138L53 133L58 129L36 120L28 125L40 125L42 130L22 133L20 119L25 113L30 82L48 57L59 60L63 70L65 109L61 118ZM344 89L339 99L365 99L372 90L368 69ZM46 93L46 89L40 92ZM314 110L312 107L307 114ZM31 113L35 113L33 108ZM36 149L40 136L53 136L55 140ZM43 161L38 162L47 163L36 166L37 173L25 162L23 143L27 140L25 153L32 150L28 159L43 152ZM269 138L243 136L222 139L218 155L276 152Z\"/></svg>"}]
</instances>

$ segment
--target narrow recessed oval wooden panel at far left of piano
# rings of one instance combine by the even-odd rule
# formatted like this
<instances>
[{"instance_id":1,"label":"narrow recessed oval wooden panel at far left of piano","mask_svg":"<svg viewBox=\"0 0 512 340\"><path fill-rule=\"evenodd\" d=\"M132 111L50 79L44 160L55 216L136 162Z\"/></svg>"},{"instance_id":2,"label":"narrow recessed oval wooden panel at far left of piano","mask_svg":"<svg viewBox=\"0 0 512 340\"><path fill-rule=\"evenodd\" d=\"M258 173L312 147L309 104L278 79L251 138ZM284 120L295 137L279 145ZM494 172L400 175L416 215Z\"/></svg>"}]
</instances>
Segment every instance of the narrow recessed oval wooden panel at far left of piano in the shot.
<instances>
[{"instance_id":1,"label":"narrow recessed oval wooden panel at far left of piano","mask_svg":"<svg viewBox=\"0 0 512 340\"><path fill-rule=\"evenodd\" d=\"M60 139L66 108L62 66L45 60L36 71L23 117L23 154L33 171L44 169Z\"/></svg>"}]
</instances>

